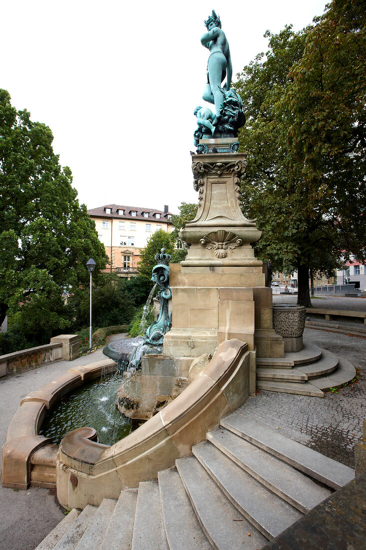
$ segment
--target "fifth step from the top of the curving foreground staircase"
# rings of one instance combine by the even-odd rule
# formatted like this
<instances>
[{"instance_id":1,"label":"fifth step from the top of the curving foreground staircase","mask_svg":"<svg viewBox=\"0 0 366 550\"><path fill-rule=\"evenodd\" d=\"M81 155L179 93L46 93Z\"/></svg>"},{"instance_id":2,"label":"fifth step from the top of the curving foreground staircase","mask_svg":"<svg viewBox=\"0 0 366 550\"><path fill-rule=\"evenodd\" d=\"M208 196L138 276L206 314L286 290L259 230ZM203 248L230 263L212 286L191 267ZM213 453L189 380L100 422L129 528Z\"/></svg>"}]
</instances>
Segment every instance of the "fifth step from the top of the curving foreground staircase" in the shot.
<instances>
[{"instance_id":1,"label":"fifth step from the top of the curving foreground staircase","mask_svg":"<svg viewBox=\"0 0 366 550\"><path fill-rule=\"evenodd\" d=\"M158 472L165 536L170 550L212 550L174 469Z\"/></svg>"}]
</instances>

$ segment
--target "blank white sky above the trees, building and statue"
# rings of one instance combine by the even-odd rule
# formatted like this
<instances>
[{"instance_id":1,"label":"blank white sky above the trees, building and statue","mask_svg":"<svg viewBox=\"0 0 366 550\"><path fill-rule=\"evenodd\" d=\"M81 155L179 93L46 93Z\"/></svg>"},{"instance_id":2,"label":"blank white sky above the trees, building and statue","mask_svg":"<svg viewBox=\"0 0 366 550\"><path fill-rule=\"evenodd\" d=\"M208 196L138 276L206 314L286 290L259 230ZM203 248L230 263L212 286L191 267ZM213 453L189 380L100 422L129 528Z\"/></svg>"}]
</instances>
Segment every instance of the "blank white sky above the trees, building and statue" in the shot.
<instances>
[{"instance_id":1,"label":"blank white sky above the trees, building and statue","mask_svg":"<svg viewBox=\"0 0 366 550\"><path fill-rule=\"evenodd\" d=\"M267 51L269 29L295 30L324 0L12 0L1 2L1 79L12 105L47 124L80 202L171 212L197 202L190 150L220 15L236 73Z\"/></svg>"}]
</instances>

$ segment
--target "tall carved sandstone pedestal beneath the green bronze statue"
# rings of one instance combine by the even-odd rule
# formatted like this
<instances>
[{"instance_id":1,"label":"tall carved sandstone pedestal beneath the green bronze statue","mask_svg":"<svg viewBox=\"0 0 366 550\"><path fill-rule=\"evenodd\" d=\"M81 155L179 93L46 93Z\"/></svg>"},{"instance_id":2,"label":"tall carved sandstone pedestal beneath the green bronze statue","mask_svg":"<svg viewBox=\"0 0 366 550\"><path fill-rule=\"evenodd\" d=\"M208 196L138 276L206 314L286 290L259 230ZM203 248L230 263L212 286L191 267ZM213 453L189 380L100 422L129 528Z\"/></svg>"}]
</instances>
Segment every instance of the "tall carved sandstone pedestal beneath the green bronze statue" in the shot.
<instances>
[{"instance_id":1,"label":"tall carved sandstone pedestal beneath the green bronze statue","mask_svg":"<svg viewBox=\"0 0 366 550\"><path fill-rule=\"evenodd\" d=\"M284 356L283 340L272 326L271 289L252 248L261 232L240 208L245 167L246 153L192 154L198 211L180 233L186 259L170 266L173 324L164 355L214 354L218 344L238 338L253 352L254 365L255 350L262 357Z\"/></svg>"}]
</instances>

